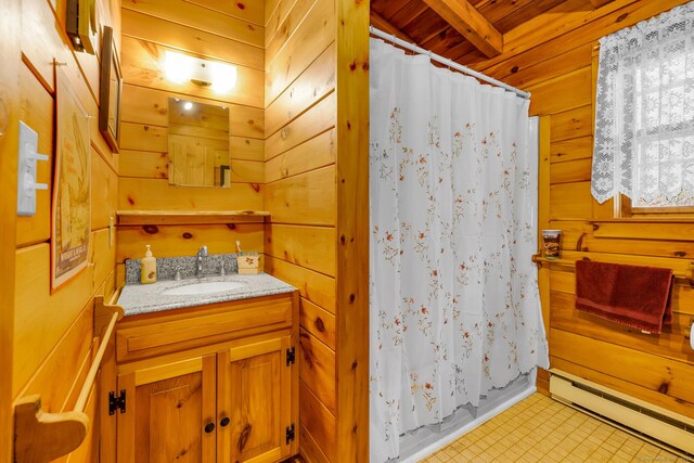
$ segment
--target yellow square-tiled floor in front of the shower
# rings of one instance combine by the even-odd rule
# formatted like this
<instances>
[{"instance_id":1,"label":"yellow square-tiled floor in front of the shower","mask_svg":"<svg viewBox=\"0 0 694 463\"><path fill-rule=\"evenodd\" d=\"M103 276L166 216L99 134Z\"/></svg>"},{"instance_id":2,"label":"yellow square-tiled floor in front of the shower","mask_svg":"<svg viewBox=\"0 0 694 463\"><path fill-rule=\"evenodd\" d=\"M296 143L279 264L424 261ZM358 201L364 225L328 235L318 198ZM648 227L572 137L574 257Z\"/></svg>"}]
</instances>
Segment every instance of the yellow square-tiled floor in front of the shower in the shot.
<instances>
[{"instance_id":1,"label":"yellow square-tiled floor in front of the shower","mask_svg":"<svg viewBox=\"0 0 694 463\"><path fill-rule=\"evenodd\" d=\"M422 462L686 462L539 393Z\"/></svg>"}]
</instances>

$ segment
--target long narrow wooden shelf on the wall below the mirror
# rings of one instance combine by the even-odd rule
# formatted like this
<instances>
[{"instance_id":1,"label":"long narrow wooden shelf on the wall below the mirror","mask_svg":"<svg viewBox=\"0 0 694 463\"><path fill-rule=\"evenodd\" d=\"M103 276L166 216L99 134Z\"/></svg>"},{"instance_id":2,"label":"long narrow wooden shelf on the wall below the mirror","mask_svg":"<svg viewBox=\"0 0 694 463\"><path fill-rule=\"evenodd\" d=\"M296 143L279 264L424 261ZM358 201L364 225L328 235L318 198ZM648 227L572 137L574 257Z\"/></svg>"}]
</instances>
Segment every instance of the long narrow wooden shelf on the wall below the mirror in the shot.
<instances>
[{"instance_id":1,"label":"long narrow wooden shelf on the wall below the mirror","mask_svg":"<svg viewBox=\"0 0 694 463\"><path fill-rule=\"evenodd\" d=\"M118 210L119 226L258 222L267 210Z\"/></svg>"}]
</instances>

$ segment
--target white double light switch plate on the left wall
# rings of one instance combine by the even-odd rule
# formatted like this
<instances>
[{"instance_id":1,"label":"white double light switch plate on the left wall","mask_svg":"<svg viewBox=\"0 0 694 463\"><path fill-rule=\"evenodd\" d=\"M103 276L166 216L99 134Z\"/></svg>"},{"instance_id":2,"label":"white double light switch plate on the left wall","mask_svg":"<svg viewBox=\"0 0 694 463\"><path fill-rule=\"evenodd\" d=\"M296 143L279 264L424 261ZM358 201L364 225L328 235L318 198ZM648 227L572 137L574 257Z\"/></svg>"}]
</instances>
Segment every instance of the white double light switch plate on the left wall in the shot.
<instances>
[{"instance_id":1,"label":"white double light switch plate on the left wall","mask_svg":"<svg viewBox=\"0 0 694 463\"><path fill-rule=\"evenodd\" d=\"M20 163L17 168L17 215L36 214L36 190L48 190L48 184L36 182L36 162L48 160L44 154L38 154L39 134L29 126L20 121Z\"/></svg>"}]
</instances>

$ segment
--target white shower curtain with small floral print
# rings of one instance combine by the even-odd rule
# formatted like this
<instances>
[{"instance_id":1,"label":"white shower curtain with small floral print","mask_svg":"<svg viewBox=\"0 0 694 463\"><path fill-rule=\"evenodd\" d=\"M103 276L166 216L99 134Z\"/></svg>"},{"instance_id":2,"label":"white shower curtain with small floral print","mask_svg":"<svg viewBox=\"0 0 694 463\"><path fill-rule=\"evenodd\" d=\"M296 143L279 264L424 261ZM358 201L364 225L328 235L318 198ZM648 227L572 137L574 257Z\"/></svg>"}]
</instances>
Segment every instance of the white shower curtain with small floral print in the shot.
<instances>
[{"instance_id":1,"label":"white shower curtain with small floral print","mask_svg":"<svg viewBox=\"0 0 694 463\"><path fill-rule=\"evenodd\" d=\"M548 366L528 101L371 40L371 461Z\"/></svg>"}]
</instances>

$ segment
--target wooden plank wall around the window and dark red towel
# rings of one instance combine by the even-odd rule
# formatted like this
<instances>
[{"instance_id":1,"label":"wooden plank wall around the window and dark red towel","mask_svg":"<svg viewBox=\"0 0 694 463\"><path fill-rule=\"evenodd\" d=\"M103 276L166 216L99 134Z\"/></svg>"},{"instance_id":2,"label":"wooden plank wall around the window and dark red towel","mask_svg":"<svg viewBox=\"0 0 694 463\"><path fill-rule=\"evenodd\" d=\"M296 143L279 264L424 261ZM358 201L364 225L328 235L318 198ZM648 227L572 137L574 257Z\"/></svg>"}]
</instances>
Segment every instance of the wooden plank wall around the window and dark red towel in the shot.
<instances>
[{"instance_id":1,"label":"wooden plank wall around the window and dark red towel","mask_svg":"<svg viewBox=\"0 0 694 463\"><path fill-rule=\"evenodd\" d=\"M613 216L612 202L599 205L590 194L593 48L600 37L681 3L685 0L617 0L594 10L586 2L586 9L558 22L550 11L509 33L500 56L475 65L530 91L531 113L551 116L550 155L541 159L549 176L540 184L549 193L549 207L541 210L548 221L540 227L564 231L564 258L683 270L694 257L691 223L590 222ZM674 323L657 336L576 311L573 266L542 274L540 284L550 292L552 366L694 417L694 351L687 334L694 291L689 285L678 281ZM547 388L547 375L539 385Z\"/></svg>"}]
</instances>

